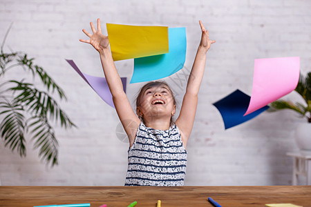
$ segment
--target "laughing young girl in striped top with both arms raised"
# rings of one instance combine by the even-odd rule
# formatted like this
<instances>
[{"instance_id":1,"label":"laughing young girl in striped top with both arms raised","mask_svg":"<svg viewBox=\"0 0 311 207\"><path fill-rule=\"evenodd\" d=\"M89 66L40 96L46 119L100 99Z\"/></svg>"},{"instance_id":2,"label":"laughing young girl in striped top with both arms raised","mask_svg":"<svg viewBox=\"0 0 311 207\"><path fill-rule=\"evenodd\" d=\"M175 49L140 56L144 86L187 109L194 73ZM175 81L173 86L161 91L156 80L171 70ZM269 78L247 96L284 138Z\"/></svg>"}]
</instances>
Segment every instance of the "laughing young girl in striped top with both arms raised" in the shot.
<instances>
[{"instance_id":1,"label":"laughing young girl in striped top with both arms raised","mask_svg":"<svg viewBox=\"0 0 311 207\"><path fill-rule=\"evenodd\" d=\"M115 110L129 137L126 186L183 186L184 184L187 141L194 125L207 50L211 43L215 42L209 39L209 32L205 30L202 22L199 23L202 37L188 79L180 115L175 123L172 121L172 116L176 112L173 93L166 83L160 81L147 83L142 87L136 101L137 115L135 115L115 68L109 50L108 36L102 34L100 19L97 19L97 31L91 22L93 34L82 30L90 39L80 39L80 41L90 43L100 53Z\"/></svg>"}]
</instances>

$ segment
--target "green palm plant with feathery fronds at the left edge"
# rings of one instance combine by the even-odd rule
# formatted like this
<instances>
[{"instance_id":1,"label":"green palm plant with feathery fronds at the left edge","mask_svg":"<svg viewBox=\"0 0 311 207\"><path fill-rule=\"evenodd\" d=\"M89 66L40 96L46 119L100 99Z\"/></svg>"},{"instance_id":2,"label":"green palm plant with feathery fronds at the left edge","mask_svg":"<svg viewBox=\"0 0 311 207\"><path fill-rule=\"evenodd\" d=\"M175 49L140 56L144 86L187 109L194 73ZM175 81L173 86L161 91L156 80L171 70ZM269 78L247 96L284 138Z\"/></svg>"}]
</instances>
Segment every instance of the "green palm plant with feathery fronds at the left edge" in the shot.
<instances>
[{"instance_id":1,"label":"green palm plant with feathery fronds at the left edge","mask_svg":"<svg viewBox=\"0 0 311 207\"><path fill-rule=\"evenodd\" d=\"M57 92L60 100L66 100L66 96L62 88L26 53L3 52L9 31L10 28L1 44L0 53L0 136L5 146L12 152L17 150L21 157L26 156L26 137L30 137L34 148L39 148L39 157L46 164L54 166L58 164L58 142L51 122L57 124L60 121L60 126L66 129L75 124L50 94ZM13 68L30 72L33 79L39 77L44 90L39 90L24 79L3 80L6 72Z\"/></svg>"}]
</instances>

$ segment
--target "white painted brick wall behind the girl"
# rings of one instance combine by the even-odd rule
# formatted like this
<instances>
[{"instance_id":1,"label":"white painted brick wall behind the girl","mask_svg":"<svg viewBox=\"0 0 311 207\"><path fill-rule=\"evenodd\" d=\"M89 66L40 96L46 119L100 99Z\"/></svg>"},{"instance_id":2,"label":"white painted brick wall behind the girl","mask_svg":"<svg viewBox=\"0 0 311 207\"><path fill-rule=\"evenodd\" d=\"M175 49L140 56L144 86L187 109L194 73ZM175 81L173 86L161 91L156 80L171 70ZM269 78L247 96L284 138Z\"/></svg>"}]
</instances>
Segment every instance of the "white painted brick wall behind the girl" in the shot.
<instances>
[{"instance_id":1,"label":"white painted brick wall behind the girl","mask_svg":"<svg viewBox=\"0 0 311 207\"><path fill-rule=\"evenodd\" d=\"M1 0L0 38L13 22L5 49L35 57L66 91L62 107L79 128L56 128L59 166L48 168L28 144L26 158L0 141L2 185L124 185L128 144L120 141L115 110L98 97L68 66L65 58L90 75L101 76L95 50L79 39L82 28L97 17L105 23L161 25L187 28L187 59L191 68L200 41L202 20L216 43L208 52L198 113L189 139L186 185L288 185L296 150L294 112L264 112L241 126L224 130L211 105L239 88L251 95L254 59L301 57L301 71L311 70L311 1L39 1ZM116 63L122 77L131 78L133 60ZM23 77L19 72L12 76ZM167 78L172 88L178 88ZM128 81L129 82L129 81ZM131 103L142 84L127 86ZM185 86L184 86L185 87ZM177 90L181 101L182 90ZM294 93L287 96L299 99Z\"/></svg>"}]
</instances>

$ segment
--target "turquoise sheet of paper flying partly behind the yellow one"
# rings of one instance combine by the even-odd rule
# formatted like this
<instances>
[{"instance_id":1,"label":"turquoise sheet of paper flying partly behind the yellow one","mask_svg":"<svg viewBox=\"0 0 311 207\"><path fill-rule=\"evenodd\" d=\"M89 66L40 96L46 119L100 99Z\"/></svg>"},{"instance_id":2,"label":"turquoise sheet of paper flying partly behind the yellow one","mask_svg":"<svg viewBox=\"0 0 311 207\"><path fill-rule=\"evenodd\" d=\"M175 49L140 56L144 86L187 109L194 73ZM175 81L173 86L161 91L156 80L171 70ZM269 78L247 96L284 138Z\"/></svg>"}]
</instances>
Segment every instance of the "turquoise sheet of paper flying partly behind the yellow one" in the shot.
<instances>
[{"instance_id":1,"label":"turquoise sheet of paper flying partly behind the yellow one","mask_svg":"<svg viewBox=\"0 0 311 207\"><path fill-rule=\"evenodd\" d=\"M153 81L173 75L186 60L186 28L169 28L169 53L134 59L131 83Z\"/></svg>"}]
</instances>

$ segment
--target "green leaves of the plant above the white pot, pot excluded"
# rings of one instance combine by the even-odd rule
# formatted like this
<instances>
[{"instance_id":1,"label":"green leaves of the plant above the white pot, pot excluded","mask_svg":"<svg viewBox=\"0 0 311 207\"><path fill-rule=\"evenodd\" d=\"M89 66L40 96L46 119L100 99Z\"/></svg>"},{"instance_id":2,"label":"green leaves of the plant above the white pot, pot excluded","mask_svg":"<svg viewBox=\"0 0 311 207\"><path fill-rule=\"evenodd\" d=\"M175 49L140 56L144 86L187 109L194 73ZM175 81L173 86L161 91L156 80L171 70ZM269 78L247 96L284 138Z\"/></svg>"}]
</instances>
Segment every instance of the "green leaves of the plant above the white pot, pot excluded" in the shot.
<instances>
[{"instance_id":1,"label":"green leaves of the plant above the white pot, pot excluded","mask_svg":"<svg viewBox=\"0 0 311 207\"><path fill-rule=\"evenodd\" d=\"M303 75L300 75L295 91L303 97L305 103L278 100L270 104L271 107L269 111L274 112L276 110L291 109L298 112L301 117L307 118L308 122L311 123L311 72L309 72L305 78Z\"/></svg>"}]
</instances>

